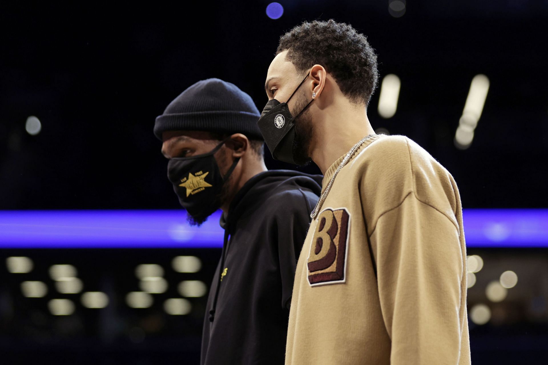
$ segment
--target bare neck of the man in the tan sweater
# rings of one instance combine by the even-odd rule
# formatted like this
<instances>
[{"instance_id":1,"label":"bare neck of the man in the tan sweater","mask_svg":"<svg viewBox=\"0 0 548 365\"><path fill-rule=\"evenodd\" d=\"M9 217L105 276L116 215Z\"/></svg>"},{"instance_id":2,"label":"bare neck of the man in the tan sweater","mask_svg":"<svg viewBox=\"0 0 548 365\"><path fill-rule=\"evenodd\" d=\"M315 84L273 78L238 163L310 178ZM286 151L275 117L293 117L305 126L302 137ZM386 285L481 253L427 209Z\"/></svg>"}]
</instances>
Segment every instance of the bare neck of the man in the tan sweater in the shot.
<instances>
[{"instance_id":1,"label":"bare neck of the man in the tan sweater","mask_svg":"<svg viewBox=\"0 0 548 365\"><path fill-rule=\"evenodd\" d=\"M314 123L314 132L310 144L311 157L322 173L341 156L352 149L359 140L375 131L365 107L342 105L324 110L323 120Z\"/></svg>"}]
</instances>

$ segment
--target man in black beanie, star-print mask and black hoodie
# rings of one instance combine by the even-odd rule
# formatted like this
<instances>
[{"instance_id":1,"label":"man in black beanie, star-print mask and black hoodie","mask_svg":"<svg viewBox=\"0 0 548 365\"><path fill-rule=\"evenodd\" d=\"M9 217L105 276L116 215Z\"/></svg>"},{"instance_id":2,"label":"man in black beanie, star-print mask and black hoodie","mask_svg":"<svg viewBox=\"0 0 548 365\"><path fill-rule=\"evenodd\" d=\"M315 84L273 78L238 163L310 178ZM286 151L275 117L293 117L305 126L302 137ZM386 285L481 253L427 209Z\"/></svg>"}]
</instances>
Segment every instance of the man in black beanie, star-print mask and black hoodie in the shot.
<instances>
[{"instance_id":1,"label":"man in black beanie, star-print mask and black hoodie","mask_svg":"<svg viewBox=\"0 0 548 365\"><path fill-rule=\"evenodd\" d=\"M193 84L156 118L168 178L191 224L222 209L201 364L281 364L296 259L321 176L267 170L253 100L220 79Z\"/></svg>"}]
</instances>

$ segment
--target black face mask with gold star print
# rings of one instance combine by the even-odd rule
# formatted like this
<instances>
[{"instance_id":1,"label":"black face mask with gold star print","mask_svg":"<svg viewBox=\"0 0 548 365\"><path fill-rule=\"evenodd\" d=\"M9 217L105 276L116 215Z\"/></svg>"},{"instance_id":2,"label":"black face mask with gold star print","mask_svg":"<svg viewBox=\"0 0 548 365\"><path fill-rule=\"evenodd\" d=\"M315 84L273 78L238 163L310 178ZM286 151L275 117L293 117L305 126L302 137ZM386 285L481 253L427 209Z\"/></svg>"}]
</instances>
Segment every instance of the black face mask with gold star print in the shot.
<instances>
[{"instance_id":1,"label":"black face mask with gold star print","mask_svg":"<svg viewBox=\"0 0 548 365\"><path fill-rule=\"evenodd\" d=\"M221 206L222 186L232 174L239 158L221 176L219 166L213 156L225 142L208 153L191 157L175 157L168 162L168 179L179 197L181 206L197 222L204 221Z\"/></svg>"}]
</instances>

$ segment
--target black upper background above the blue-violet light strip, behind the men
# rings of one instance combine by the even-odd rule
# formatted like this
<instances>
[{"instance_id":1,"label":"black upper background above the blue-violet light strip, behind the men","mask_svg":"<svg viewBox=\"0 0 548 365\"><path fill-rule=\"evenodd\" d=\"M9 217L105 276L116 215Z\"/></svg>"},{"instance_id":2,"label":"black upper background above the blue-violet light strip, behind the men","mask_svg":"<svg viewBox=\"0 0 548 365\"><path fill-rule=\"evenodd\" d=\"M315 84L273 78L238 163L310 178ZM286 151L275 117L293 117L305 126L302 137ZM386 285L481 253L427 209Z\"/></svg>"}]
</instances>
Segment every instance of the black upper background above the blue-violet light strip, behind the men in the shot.
<instances>
[{"instance_id":1,"label":"black upper background above the blue-violet light strip, behind the men","mask_svg":"<svg viewBox=\"0 0 548 365\"><path fill-rule=\"evenodd\" d=\"M284 31L303 20L349 22L376 49L381 77L402 81L390 119L455 176L465 208L548 206L548 2L181 2L0 5L0 209L177 208L153 136L155 117L196 81L250 94ZM473 76L490 89L467 150L453 143ZM25 132L28 116L42 132ZM290 166L272 161L270 168ZM317 171L313 167L303 170Z\"/></svg>"}]
</instances>

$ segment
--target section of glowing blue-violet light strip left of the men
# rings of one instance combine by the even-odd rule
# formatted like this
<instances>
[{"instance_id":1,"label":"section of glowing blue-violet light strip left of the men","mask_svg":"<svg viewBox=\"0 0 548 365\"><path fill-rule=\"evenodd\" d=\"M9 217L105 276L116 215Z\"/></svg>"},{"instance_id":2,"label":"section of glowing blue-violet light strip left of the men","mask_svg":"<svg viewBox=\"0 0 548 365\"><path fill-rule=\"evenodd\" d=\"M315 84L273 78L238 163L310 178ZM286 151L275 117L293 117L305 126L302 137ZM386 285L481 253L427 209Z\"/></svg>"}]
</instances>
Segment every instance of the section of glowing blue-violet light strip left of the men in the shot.
<instances>
[{"instance_id":1,"label":"section of glowing blue-violet light strip left of the men","mask_svg":"<svg viewBox=\"0 0 548 365\"><path fill-rule=\"evenodd\" d=\"M197 227L185 210L4 210L0 248L221 247L220 214Z\"/></svg>"}]
</instances>

